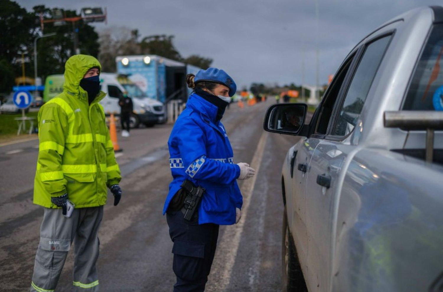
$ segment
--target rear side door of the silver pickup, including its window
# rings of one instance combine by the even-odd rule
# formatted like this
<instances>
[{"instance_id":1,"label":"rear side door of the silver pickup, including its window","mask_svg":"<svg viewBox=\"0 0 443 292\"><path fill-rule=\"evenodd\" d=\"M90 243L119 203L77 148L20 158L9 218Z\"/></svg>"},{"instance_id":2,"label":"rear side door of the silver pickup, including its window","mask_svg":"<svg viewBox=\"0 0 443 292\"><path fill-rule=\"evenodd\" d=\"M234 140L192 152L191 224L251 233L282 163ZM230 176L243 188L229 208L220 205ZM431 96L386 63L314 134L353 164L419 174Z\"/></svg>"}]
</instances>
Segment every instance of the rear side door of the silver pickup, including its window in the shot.
<instances>
[{"instance_id":1,"label":"rear side door of the silver pickup, including its window","mask_svg":"<svg viewBox=\"0 0 443 292\"><path fill-rule=\"evenodd\" d=\"M334 104L326 136L318 143L313 142L316 147L306 181L306 223L309 278L311 284L319 287L316 290L329 289L331 234L335 202L340 193L339 177L342 169L346 171L346 157L357 146L351 134L361 129L359 116L390 39L391 35L384 35L358 49Z\"/></svg>"}]
</instances>

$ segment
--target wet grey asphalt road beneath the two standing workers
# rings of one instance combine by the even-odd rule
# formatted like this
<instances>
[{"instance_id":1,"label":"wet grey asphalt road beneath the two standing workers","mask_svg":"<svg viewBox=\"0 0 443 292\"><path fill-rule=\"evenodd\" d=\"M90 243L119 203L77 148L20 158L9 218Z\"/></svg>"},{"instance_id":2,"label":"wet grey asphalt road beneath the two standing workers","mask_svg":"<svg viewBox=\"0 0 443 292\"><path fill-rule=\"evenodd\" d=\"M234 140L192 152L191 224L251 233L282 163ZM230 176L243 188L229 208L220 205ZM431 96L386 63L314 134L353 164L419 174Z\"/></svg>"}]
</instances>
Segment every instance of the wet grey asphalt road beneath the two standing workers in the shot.
<instances>
[{"instance_id":1,"label":"wet grey asphalt road beneath the two standing workers","mask_svg":"<svg viewBox=\"0 0 443 292\"><path fill-rule=\"evenodd\" d=\"M263 131L272 100L225 113L222 122L234 163L256 168L242 181L241 222L221 226L206 291L281 291L281 165L298 140ZM167 139L172 125L131 131L117 154L123 198L109 198L101 224L98 271L101 291L172 291L172 242L162 215L171 174ZM26 291L31 283L43 208L32 204L38 140L0 146L0 290ZM72 250L72 249L71 249ZM72 253L56 291L72 287Z\"/></svg>"}]
</instances>

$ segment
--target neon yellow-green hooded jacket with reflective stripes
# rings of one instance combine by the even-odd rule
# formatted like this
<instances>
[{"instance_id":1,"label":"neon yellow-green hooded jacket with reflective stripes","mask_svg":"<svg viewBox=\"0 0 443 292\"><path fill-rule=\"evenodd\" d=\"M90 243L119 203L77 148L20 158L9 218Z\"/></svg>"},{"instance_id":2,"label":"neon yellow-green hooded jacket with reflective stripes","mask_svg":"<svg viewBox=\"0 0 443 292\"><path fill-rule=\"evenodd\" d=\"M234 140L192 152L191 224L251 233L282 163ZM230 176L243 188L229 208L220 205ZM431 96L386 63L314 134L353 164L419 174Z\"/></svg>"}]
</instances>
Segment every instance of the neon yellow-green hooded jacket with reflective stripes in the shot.
<instances>
[{"instance_id":1,"label":"neon yellow-green hooded jacket with reflective stripes","mask_svg":"<svg viewBox=\"0 0 443 292\"><path fill-rule=\"evenodd\" d=\"M76 208L105 205L107 189L119 183L120 169L99 101L100 91L88 104L88 93L79 86L98 60L74 55L66 61L63 92L39 111L39 158L34 180L34 203L57 208L51 197L65 193Z\"/></svg>"}]
</instances>

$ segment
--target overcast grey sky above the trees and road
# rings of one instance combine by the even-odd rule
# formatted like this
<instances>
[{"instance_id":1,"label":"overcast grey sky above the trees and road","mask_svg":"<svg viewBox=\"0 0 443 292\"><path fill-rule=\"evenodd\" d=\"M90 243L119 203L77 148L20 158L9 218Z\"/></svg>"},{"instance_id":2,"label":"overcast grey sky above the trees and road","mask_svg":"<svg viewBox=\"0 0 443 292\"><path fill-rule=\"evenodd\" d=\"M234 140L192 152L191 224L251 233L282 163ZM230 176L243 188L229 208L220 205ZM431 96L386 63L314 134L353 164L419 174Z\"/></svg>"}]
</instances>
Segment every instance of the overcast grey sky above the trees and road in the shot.
<instances>
[{"instance_id":1,"label":"overcast grey sky above the trees and road","mask_svg":"<svg viewBox=\"0 0 443 292\"><path fill-rule=\"evenodd\" d=\"M327 83L348 52L385 21L441 0L318 0L319 77ZM237 86L251 82L315 84L316 18L314 0L18 0L33 6L77 9L107 7L105 27L138 29L142 37L175 35L183 57L213 58ZM304 51L304 54L303 54Z\"/></svg>"}]
</instances>

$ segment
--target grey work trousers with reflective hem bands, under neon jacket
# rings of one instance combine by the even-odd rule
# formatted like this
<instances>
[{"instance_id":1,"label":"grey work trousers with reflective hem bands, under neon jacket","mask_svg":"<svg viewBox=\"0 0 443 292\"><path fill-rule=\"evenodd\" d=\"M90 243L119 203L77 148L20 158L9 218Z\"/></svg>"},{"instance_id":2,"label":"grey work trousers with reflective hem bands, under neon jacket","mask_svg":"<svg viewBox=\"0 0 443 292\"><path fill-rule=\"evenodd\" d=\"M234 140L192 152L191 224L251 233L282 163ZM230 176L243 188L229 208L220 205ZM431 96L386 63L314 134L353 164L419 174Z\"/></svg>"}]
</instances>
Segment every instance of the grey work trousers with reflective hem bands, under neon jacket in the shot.
<instances>
[{"instance_id":1,"label":"grey work trousers with reflective hem bands, under neon jacket","mask_svg":"<svg viewBox=\"0 0 443 292\"><path fill-rule=\"evenodd\" d=\"M40 243L35 255L31 292L54 291L72 242L72 291L98 291L95 264L100 244L97 233L102 218L103 206L74 209L70 218L63 216L62 209L45 208L40 227Z\"/></svg>"}]
</instances>

